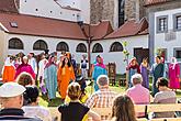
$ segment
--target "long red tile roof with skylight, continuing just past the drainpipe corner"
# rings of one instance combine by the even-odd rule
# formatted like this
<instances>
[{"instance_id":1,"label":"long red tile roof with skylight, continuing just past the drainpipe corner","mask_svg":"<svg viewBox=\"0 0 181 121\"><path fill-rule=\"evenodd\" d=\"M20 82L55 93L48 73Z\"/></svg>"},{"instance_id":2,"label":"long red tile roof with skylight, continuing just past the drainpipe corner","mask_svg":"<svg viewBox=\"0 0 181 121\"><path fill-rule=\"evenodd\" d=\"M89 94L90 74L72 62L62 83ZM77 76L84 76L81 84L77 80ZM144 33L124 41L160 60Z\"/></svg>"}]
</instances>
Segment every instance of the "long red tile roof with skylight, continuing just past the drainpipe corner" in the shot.
<instances>
[{"instance_id":1,"label":"long red tile roof with skylight, continuing just past the drainpipe corner","mask_svg":"<svg viewBox=\"0 0 181 121\"><path fill-rule=\"evenodd\" d=\"M10 22L15 22L18 28L12 28ZM0 23L5 28L7 33L52 36L60 38L88 40L88 24L84 24L86 36L77 22L25 15L0 13ZM90 25L92 40L102 38L113 30L110 22L100 22L98 25Z\"/></svg>"}]
</instances>

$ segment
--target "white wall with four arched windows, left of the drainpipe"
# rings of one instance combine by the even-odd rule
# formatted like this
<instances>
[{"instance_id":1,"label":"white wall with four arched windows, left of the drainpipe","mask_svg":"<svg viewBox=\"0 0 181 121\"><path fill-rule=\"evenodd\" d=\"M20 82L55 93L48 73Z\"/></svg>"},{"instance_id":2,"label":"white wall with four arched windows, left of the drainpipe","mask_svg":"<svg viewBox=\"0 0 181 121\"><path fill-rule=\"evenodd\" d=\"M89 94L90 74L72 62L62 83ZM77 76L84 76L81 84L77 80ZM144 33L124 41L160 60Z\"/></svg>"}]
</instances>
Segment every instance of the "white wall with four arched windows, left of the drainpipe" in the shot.
<instances>
[{"instance_id":1,"label":"white wall with four arched windows, left of the drainpipe","mask_svg":"<svg viewBox=\"0 0 181 121\"><path fill-rule=\"evenodd\" d=\"M23 52L24 54L29 54L30 52L33 52L35 54L41 54L44 51L33 51L33 44L37 40L43 40L47 43L49 53L56 52L56 46L59 42L66 42L69 46L69 52L75 54L75 58L78 63L80 63L82 54L87 53L76 53L76 47L79 43L83 43L87 46L86 41L79 41L79 40L68 40L68 38L55 38L55 37L44 37L44 36L30 36L30 35L19 35L19 34L9 34L7 37L7 44L10 38L18 37L20 38L24 44L24 50L9 50L8 54L15 55L20 52ZM58 55L60 52L58 52Z\"/></svg>"}]
</instances>

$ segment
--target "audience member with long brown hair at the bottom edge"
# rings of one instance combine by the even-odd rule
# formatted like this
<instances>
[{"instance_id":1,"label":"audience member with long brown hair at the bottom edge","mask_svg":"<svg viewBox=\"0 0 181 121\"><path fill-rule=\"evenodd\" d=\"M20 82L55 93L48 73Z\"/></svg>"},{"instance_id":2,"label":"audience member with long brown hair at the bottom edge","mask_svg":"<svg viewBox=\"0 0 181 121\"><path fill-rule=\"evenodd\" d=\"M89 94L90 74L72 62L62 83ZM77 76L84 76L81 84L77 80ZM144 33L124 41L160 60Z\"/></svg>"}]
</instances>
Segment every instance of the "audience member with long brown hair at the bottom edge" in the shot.
<instances>
[{"instance_id":1,"label":"audience member with long brown hair at the bottom edge","mask_svg":"<svg viewBox=\"0 0 181 121\"><path fill-rule=\"evenodd\" d=\"M127 96L115 98L112 108L111 121L137 121L132 99Z\"/></svg>"}]
</instances>

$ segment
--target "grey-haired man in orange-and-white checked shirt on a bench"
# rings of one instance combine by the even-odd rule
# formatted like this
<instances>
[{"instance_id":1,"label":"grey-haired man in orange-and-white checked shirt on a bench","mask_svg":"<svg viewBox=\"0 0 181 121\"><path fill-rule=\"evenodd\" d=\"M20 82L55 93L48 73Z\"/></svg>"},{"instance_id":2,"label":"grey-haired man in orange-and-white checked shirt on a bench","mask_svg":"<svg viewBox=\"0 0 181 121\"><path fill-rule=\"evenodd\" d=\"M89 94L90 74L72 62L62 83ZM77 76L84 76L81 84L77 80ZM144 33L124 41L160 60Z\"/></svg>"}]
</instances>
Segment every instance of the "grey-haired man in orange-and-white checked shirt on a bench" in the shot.
<instances>
[{"instance_id":1,"label":"grey-haired man in orange-and-white checked shirt on a bench","mask_svg":"<svg viewBox=\"0 0 181 121\"><path fill-rule=\"evenodd\" d=\"M101 75L97 79L100 90L95 91L86 102L89 108L110 108L116 94L109 89L109 77ZM108 118L102 118L106 120Z\"/></svg>"}]
</instances>

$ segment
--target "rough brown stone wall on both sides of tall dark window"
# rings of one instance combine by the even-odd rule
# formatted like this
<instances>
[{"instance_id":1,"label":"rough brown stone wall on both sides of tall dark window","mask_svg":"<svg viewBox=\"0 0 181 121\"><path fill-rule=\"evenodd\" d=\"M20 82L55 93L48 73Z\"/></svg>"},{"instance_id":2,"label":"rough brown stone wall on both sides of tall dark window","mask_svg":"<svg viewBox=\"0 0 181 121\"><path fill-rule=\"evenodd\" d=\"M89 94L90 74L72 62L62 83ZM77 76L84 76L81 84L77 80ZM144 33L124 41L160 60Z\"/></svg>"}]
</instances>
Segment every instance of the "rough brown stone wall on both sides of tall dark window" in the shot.
<instances>
[{"instance_id":1,"label":"rough brown stone wall on both sides of tall dark window","mask_svg":"<svg viewBox=\"0 0 181 121\"><path fill-rule=\"evenodd\" d=\"M90 0L90 21L98 23L100 20L110 20L112 26L117 23L118 0ZM125 0L125 20L140 20L145 16L143 0Z\"/></svg>"}]
</instances>

